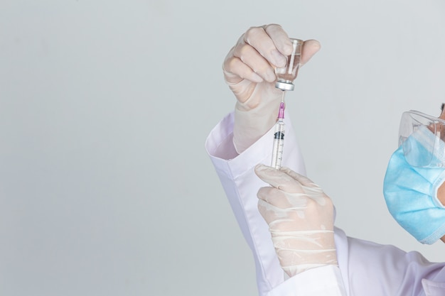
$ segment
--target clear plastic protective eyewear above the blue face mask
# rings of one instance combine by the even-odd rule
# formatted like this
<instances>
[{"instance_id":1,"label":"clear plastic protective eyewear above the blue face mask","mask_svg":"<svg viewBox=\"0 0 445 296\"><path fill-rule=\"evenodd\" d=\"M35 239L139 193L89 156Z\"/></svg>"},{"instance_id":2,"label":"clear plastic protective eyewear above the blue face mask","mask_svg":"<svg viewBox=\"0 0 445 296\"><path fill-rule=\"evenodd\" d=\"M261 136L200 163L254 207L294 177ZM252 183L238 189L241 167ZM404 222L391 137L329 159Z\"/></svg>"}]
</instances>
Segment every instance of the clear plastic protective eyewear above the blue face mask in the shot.
<instances>
[{"instance_id":1,"label":"clear plastic protective eyewear above the blue face mask","mask_svg":"<svg viewBox=\"0 0 445 296\"><path fill-rule=\"evenodd\" d=\"M402 114L399 146L409 165L445 168L445 121L419 111Z\"/></svg>"}]
</instances>

